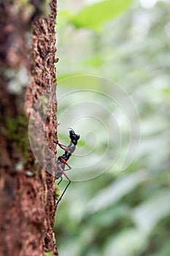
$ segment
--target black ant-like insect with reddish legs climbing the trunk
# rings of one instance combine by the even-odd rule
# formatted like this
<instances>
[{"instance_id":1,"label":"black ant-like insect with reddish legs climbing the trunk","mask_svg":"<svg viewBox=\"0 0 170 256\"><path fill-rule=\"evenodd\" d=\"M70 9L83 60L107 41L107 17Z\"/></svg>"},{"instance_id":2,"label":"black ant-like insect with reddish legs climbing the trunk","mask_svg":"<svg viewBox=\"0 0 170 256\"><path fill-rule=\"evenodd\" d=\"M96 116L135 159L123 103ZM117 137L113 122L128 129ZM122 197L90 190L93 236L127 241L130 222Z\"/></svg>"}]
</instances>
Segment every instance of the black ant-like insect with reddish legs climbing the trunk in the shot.
<instances>
[{"instance_id":1,"label":"black ant-like insect with reddish legs climbing the trunk","mask_svg":"<svg viewBox=\"0 0 170 256\"><path fill-rule=\"evenodd\" d=\"M61 143L58 143L58 146L60 148L62 148L65 153L62 154L60 157L58 157L57 159L57 170L55 171L55 176L56 178L60 178L61 180L58 182L58 184L61 183L61 181L63 180L62 176L65 176L66 179L69 181L69 183L66 185L65 189L63 190L61 196L59 197L57 203L56 203L56 208L58 206L58 203L61 201L63 194L66 192L66 189L69 187L69 184L71 183L71 180L69 178L69 176L66 175L66 170L71 170L72 167L68 164L68 160L69 158L72 156L72 153L75 151L76 149L76 145L77 145L77 140L80 139L80 135L77 135L74 132L74 129L69 128L69 138L71 139L69 146L64 146ZM65 167L67 167L67 169L65 169Z\"/></svg>"}]
</instances>

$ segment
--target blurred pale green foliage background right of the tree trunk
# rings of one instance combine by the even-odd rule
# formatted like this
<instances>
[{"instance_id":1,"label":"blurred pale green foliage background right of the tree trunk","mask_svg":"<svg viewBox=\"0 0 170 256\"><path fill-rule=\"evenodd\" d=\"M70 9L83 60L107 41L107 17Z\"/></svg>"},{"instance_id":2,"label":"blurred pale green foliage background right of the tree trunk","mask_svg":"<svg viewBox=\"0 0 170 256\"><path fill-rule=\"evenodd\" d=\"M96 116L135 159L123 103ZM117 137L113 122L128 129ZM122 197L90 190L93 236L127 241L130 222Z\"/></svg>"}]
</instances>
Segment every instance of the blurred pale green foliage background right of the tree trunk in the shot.
<instances>
[{"instance_id":1,"label":"blurred pale green foliage background right of the tree trunk","mask_svg":"<svg viewBox=\"0 0 170 256\"><path fill-rule=\"evenodd\" d=\"M169 4L58 1L58 138L81 136L56 213L61 256L170 255Z\"/></svg>"}]
</instances>

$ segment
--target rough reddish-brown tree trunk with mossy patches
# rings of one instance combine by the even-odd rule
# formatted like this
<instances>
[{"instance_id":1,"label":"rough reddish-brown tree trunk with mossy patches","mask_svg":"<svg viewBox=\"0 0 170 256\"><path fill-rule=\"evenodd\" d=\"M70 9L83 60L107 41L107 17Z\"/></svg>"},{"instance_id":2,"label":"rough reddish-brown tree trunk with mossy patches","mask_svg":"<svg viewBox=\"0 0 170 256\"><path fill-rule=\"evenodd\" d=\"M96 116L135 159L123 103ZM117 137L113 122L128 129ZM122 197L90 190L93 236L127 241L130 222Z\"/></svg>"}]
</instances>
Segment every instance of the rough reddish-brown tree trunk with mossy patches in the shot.
<instances>
[{"instance_id":1,"label":"rough reddish-brown tree trunk with mossy patches","mask_svg":"<svg viewBox=\"0 0 170 256\"><path fill-rule=\"evenodd\" d=\"M50 173L43 170L28 140L31 110L36 99L50 89L45 138L48 150L55 156L56 0L50 1L50 11L46 18L42 18L45 16L43 10L45 1L41 0L0 0L1 256L58 255L53 239L55 177L50 174L53 174L55 165L49 165L49 159L46 159L43 167L45 170L50 167ZM29 37L32 47L29 45ZM24 75L25 71L28 78ZM27 79L31 82L23 92ZM42 122L42 115L37 111L35 127ZM34 134L31 140L35 140L38 147L41 146L41 131L36 132L36 138ZM44 154L46 156L46 151ZM55 158L50 159L50 162L55 162Z\"/></svg>"}]
</instances>

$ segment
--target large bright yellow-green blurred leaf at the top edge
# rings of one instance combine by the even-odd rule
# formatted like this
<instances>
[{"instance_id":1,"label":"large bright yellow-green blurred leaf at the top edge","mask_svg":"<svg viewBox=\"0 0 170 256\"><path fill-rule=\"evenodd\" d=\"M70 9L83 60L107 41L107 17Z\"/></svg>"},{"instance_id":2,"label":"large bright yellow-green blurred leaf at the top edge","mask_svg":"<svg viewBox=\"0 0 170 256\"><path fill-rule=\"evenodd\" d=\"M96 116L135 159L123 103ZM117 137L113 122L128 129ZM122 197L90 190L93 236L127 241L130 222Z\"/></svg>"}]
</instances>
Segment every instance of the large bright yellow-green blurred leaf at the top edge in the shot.
<instances>
[{"instance_id":1,"label":"large bright yellow-green blurred leaf at the top edge","mask_svg":"<svg viewBox=\"0 0 170 256\"><path fill-rule=\"evenodd\" d=\"M129 4L131 4L131 0L101 1L81 10L72 19L72 23L76 28L98 29L102 23L123 12Z\"/></svg>"}]
</instances>

